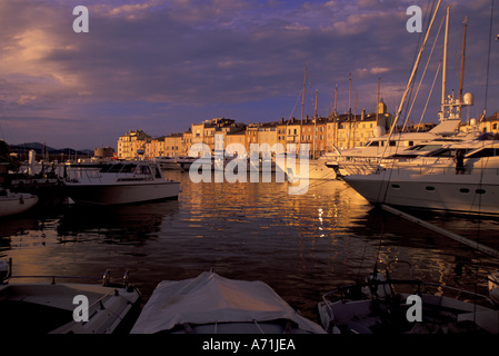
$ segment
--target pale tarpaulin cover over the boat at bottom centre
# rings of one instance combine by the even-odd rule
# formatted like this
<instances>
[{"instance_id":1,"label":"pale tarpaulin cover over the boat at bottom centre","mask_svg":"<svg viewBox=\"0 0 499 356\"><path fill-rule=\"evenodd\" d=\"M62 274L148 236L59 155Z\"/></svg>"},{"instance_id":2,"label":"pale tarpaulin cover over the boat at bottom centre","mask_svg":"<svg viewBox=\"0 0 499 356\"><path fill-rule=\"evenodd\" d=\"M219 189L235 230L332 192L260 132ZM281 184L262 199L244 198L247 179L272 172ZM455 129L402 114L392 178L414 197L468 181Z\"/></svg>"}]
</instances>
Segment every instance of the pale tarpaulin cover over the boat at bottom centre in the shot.
<instances>
[{"instance_id":1,"label":"pale tarpaulin cover over the boat at bottom centre","mask_svg":"<svg viewBox=\"0 0 499 356\"><path fill-rule=\"evenodd\" d=\"M300 329L323 334L316 323L298 315L262 281L228 279L204 271L196 278L163 280L152 293L132 334L154 334L176 325L250 323L289 319Z\"/></svg>"}]
</instances>

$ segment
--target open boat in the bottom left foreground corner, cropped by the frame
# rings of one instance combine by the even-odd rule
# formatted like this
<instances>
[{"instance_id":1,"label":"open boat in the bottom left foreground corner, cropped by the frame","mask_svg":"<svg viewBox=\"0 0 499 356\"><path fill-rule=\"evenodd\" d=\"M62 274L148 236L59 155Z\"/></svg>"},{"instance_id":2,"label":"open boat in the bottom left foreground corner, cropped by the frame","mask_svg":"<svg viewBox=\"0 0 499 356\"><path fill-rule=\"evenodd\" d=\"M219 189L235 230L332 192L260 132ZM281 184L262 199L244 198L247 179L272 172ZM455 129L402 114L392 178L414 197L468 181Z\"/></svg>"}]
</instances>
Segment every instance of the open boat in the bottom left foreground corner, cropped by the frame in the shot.
<instances>
[{"instance_id":1,"label":"open boat in the bottom left foreground corner, cropped by the frame","mask_svg":"<svg viewBox=\"0 0 499 356\"><path fill-rule=\"evenodd\" d=\"M14 283L30 278L46 281ZM2 335L128 333L140 310L141 295L128 284L60 283L64 276L12 276L12 260L0 261ZM87 279L87 278L86 278ZM91 278L89 278L91 279Z\"/></svg>"}]
</instances>

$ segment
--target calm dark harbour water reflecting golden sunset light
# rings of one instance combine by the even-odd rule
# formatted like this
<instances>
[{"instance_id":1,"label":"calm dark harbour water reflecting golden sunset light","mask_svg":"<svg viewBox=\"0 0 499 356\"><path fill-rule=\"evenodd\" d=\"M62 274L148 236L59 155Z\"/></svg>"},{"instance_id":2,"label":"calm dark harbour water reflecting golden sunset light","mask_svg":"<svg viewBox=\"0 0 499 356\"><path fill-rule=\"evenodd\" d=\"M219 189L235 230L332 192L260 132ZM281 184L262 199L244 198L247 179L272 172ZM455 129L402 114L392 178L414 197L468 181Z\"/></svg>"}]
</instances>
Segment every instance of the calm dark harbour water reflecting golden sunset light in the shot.
<instances>
[{"instance_id":1,"label":"calm dark harbour water reflecting golden sunset light","mask_svg":"<svg viewBox=\"0 0 499 356\"><path fill-rule=\"evenodd\" d=\"M487 294L485 278L499 261L446 237L372 208L345 182L311 181L306 195L288 182L181 181L179 200L117 208L38 208L0 220L0 258L14 275L100 277L106 269L131 283L147 300L163 279L192 278L214 268L237 279L259 279L317 322L323 293L353 283L392 259L413 276ZM415 212L499 249L499 220ZM462 267L456 269L456 267ZM407 271L403 273L407 277Z\"/></svg>"}]
</instances>

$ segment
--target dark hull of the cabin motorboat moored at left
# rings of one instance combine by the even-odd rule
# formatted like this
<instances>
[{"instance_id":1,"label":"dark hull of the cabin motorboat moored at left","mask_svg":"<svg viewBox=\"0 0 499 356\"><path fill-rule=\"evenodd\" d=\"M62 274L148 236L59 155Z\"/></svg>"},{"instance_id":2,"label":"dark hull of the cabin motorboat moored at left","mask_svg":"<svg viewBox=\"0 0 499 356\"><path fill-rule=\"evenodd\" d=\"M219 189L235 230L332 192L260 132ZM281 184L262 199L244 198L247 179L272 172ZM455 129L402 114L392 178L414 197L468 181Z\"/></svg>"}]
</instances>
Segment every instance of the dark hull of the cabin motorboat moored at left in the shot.
<instances>
[{"instance_id":1,"label":"dark hull of the cabin motorboat moored at left","mask_svg":"<svg viewBox=\"0 0 499 356\"><path fill-rule=\"evenodd\" d=\"M82 205L124 205L177 199L180 182L164 181L140 185L67 184L68 196Z\"/></svg>"}]
</instances>

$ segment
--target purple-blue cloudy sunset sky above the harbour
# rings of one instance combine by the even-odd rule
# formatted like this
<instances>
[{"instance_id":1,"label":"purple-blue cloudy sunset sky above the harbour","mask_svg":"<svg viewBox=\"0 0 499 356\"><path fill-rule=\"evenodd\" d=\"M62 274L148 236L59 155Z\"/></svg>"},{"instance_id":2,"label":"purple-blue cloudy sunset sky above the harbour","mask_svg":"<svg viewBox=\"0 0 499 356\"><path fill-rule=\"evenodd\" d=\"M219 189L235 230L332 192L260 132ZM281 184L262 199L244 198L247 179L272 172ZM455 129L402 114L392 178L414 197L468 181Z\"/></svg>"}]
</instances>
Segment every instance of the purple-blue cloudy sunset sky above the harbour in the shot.
<instances>
[{"instance_id":1,"label":"purple-blue cloudy sunset sky above the harbour","mask_svg":"<svg viewBox=\"0 0 499 356\"><path fill-rule=\"evenodd\" d=\"M279 0L2 0L0 1L0 139L54 148L117 146L140 129L157 137L224 117L267 122L306 115L373 111L380 96L395 113L425 33L410 33L409 6L423 24L437 1ZM497 2L497 1L496 1ZM468 19L466 118L499 109L499 3L490 41L491 0L442 1L419 75L446 7L451 6L448 93L459 90L463 20ZM76 33L73 8L89 10ZM425 30L425 28L423 28ZM442 57L443 28L410 118L419 121ZM419 83L420 76L417 78ZM437 121L438 77L423 121ZM357 100L356 100L357 98Z\"/></svg>"}]
</instances>

